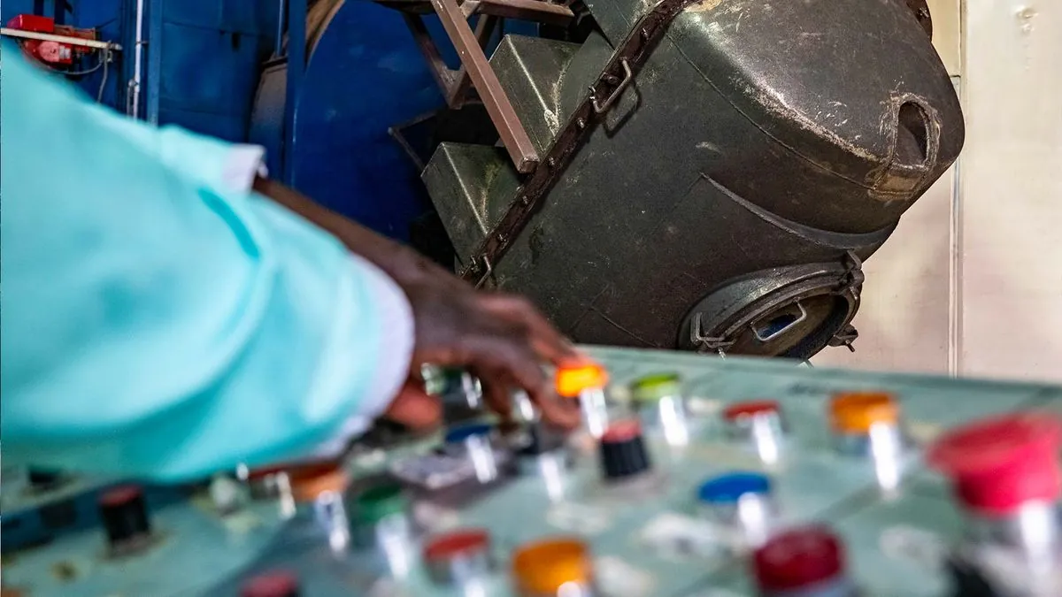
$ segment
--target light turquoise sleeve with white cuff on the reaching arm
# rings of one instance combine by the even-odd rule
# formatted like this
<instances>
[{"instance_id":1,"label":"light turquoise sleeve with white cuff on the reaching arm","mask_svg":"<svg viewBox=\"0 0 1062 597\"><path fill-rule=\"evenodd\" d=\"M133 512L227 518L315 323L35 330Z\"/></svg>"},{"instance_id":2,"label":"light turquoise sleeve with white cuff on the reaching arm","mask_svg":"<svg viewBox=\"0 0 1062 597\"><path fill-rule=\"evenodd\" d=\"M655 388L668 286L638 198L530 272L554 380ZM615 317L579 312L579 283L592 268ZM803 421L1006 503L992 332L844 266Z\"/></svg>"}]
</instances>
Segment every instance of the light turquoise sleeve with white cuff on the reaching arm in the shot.
<instances>
[{"instance_id":1,"label":"light turquoise sleeve with white cuff on the reaching arm","mask_svg":"<svg viewBox=\"0 0 1062 597\"><path fill-rule=\"evenodd\" d=\"M0 69L5 465L190 478L298 457L387 405L412 343L389 278L227 187L233 146L131 121L17 54Z\"/></svg>"}]
</instances>

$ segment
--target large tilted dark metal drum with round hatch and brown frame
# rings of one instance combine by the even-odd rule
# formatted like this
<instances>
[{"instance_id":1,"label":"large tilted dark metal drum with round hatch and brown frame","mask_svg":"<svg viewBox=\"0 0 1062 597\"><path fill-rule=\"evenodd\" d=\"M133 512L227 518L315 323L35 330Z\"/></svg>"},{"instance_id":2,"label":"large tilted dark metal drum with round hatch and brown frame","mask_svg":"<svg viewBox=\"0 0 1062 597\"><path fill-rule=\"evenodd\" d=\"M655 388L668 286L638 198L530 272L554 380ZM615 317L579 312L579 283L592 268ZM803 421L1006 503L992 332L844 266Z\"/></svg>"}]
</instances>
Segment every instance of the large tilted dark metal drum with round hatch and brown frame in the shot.
<instances>
[{"instance_id":1,"label":"large tilted dark metal drum with round hatch and brown frame","mask_svg":"<svg viewBox=\"0 0 1062 597\"><path fill-rule=\"evenodd\" d=\"M380 3L500 139L444 142L423 173L463 275L580 342L851 347L862 260L963 142L921 0ZM425 33L432 11L460 70ZM542 36L487 58L501 17Z\"/></svg>"}]
</instances>

